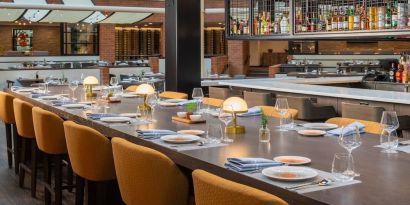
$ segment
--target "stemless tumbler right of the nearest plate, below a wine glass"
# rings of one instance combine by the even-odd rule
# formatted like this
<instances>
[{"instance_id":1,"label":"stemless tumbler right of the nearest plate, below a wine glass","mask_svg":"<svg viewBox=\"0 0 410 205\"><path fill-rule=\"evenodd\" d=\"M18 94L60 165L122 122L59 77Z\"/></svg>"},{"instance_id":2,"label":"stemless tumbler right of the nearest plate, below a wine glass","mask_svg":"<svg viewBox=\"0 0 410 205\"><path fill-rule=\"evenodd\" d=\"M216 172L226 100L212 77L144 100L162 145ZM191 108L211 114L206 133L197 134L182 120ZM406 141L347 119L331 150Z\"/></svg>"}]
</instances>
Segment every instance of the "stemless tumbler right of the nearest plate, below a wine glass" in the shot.
<instances>
[{"instance_id":1,"label":"stemless tumbler right of the nearest plate, below a wine glass","mask_svg":"<svg viewBox=\"0 0 410 205\"><path fill-rule=\"evenodd\" d=\"M353 165L353 156L346 153L336 153L333 156L332 175L338 181L351 181L355 176L354 173L350 171Z\"/></svg>"}]
</instances>

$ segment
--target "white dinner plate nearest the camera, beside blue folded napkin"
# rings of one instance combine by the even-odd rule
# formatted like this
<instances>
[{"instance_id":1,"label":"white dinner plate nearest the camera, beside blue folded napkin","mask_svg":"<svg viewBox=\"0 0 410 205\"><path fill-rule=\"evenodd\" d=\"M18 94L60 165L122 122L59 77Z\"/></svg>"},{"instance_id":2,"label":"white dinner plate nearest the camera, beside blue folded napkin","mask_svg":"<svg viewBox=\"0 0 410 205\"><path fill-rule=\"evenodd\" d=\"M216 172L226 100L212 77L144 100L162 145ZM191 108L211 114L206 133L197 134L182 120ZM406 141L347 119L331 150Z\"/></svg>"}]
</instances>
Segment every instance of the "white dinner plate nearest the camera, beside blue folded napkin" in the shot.
<instances>
[{"instance_id":1,"label":"white dinner plate nearest the camera, beside blue folded napkin","mask_svg":"<svg viewBox=\"0 0 410 205\"><path fill-rule=\"evenodd\" d=\"M262 174L268 178L280 181L303 181L315 178L317 171L307 167L278 166L262 170Z\"/></svg>"}]
</instances>

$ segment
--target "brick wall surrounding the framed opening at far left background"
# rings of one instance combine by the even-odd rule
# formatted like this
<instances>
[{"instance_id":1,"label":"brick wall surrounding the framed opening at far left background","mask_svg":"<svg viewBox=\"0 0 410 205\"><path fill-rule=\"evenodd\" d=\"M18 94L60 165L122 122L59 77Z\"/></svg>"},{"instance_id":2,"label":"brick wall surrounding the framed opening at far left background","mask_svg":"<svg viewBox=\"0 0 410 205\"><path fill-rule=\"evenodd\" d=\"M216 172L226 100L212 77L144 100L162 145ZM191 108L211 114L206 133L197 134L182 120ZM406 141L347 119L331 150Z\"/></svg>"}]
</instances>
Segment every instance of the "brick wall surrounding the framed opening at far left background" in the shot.
<instances>
[{"instance_id":1,"label":"brick wall surrounding the framed opening at far left background","mask_svg":"<svg viewBox=\"0 0 410 205\"><path fill-rule=\"evenodd\" d=\"M61 55L60 26L0 26L0 55L13 50L13 29L33 29L33 50L48 51L49 55Z\"/></svg>"}]
</instances>

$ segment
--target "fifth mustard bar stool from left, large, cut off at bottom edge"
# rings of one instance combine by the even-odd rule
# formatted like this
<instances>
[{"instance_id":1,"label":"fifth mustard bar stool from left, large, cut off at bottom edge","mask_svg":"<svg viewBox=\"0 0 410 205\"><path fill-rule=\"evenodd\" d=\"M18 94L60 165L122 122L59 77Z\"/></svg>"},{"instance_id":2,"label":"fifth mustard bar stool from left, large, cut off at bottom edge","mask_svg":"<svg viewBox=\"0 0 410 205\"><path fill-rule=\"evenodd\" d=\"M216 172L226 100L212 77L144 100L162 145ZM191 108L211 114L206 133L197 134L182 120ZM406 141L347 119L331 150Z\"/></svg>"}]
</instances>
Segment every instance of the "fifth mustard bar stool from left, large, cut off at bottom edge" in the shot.
<instances>
[{"instance_id":1,"label":"fifth mustard bar stool from left, large, cut off at bottom edge","mask_svg":"<svg viewBox=\"0 0 410 205\"><path fill-rule=\"evenodd\" d=\"M187 205L188 179L167 156L121 138L112 139L112 149L126 204Z\"/></svg>"}]
</instances>

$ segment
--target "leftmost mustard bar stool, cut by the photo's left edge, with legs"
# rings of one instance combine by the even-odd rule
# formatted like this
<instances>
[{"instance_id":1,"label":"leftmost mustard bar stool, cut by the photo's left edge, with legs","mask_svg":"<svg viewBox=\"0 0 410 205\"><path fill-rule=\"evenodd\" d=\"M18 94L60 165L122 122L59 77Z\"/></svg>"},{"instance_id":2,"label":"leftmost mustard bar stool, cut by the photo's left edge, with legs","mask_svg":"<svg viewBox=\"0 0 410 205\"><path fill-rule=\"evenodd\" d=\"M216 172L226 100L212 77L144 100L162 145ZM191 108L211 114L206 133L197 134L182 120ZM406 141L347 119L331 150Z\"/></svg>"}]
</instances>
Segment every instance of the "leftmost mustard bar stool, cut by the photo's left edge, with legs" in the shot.
<instances>
[{"instance_id":1,"label":"leftmost mustard bar stool, cut by the photo's left edge, with legs","mask_svg":"<svg viewBox=\"0 0 410 205\"><path fill-rule=\"evenodd\" d=\"M12 127L16 124L13 111L13 99L14 96L0 91L0 120L4 122L6 129L7 162L10 169L13 167ZM16 136L14 136L14 138L15 137ZM14 163L14 166L18 167L16 160Z\"/></svg>"}]
</instances>

